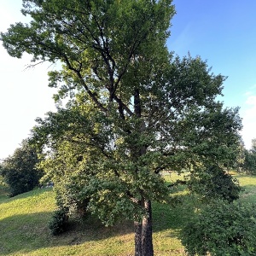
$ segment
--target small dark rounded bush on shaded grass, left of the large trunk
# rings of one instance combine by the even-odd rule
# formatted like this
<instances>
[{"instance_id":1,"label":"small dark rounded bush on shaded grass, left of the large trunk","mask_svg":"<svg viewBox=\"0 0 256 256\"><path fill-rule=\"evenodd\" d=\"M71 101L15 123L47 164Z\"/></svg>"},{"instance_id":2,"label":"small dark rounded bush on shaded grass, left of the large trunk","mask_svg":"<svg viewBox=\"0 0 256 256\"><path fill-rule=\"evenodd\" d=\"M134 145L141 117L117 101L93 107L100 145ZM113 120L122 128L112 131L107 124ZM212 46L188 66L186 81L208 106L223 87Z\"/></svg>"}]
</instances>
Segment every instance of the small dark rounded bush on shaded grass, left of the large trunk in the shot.
<instances>
[{"instance_id":1,"label":"small dark rounded bush on shaded grass, left of the large trunk","mask_svg":"<svg viewBox=\"0 0 256 256\"><path fill-rule=\"evenodd\" d=\"M67 230L68 215L66 209L59 209L54 212L51 221L49 222L49 229L52 235L59 235Z\"/></svg>"}]
</instances>

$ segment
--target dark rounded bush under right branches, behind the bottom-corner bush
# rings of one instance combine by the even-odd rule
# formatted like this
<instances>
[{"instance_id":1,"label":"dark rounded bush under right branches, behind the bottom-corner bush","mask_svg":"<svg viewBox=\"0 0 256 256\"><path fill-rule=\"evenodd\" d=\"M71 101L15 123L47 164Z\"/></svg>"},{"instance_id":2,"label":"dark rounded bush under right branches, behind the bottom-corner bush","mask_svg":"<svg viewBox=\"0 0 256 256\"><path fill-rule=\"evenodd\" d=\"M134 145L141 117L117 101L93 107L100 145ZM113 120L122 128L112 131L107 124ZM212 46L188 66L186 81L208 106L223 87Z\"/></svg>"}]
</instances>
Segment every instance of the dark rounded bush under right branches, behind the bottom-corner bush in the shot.
<instances>
[{"instance_id":1,"label":"dark rounded bush under right branches, behind the bottom-corner bush","mask_svg":"<svg viewBox=\"0 0 256 256\"><path fill-rule=\"evenodd\" d=\"M191 172L188 186L192 193L201 195L205 202L216 198L234 201L239 198L241 191L238 180L219 166Z\"/></svg>"}]
</instances>

